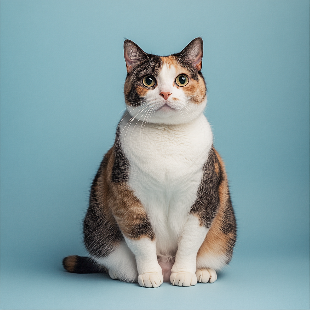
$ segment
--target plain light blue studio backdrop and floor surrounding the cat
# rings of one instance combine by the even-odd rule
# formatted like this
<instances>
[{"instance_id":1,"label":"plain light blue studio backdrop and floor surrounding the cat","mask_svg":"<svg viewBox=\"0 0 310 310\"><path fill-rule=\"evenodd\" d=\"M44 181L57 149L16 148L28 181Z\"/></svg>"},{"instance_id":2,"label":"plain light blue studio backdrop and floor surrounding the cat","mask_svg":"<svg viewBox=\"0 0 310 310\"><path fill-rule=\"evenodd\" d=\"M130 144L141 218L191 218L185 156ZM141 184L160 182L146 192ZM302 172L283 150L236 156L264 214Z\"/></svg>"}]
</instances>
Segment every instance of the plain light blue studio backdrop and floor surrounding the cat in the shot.
<instances>
[{"instance_id":1,"label":"plain light blue studio backdrop and floor surrounding the cat","mask_svg":"<svg viewBox=\"0 0 310 310\"><path fill-rule=\"evenodd\" d=\"M1 1L1 308L309 308L308 1ZM210 284L145 289L64 272L124 109L124 37L202 36L206 116L238 222Z\"/></svg>"}]
</instances>

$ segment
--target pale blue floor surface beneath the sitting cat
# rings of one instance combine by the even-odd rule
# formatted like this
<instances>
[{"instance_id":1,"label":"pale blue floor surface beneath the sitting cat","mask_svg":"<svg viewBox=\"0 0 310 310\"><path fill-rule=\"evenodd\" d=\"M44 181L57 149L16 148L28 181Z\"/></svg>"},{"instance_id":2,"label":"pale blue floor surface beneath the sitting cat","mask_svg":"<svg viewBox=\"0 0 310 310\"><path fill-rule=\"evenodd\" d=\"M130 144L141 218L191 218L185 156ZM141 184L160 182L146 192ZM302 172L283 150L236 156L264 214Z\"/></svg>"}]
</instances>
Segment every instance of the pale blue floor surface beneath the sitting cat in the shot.
<instances>
[{"instance_id":1,"label":"pale blue floor surface beneath the sitting cat","mask_svg":"<svg viewBox=\"0 0 310 310\"><path fill-rule=\"evenodd\" d=\"M46 263L2 262L1 309L309 309L307 257L235 257L213 284L156 289Z\"/></svg>"}]
</instances>

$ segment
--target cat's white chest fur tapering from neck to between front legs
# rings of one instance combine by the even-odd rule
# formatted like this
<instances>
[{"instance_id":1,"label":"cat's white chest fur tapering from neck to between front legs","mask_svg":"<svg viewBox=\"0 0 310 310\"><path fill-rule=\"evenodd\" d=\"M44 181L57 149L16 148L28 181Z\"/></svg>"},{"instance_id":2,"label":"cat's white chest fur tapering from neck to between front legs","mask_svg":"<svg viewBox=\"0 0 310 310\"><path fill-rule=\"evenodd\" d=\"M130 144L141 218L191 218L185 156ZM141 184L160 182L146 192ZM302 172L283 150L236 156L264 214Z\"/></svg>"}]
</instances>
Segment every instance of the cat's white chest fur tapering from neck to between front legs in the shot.
<instances>
[{"instance_id":1,"label":"cat's white chest fur tapering from neck to between front legs","mask_svg":"<svg viewBox=\"0 0 310 310\"><path fill-rule=\"evenodd\" d=\"M125 117L118 141L129 161L128 185L144 205L156 235L157 254L174 255L197 198L202 166L212 146L204 115L182 125L155 125ZM127 125L126 125L127 124Z\"/></svg>"}]
</instances>

